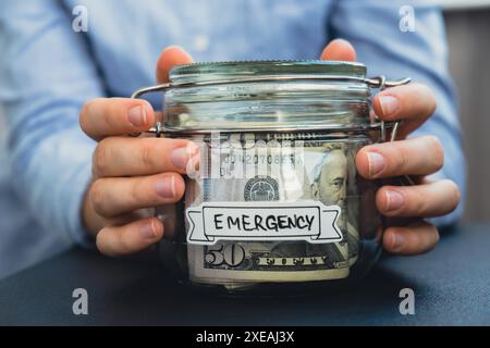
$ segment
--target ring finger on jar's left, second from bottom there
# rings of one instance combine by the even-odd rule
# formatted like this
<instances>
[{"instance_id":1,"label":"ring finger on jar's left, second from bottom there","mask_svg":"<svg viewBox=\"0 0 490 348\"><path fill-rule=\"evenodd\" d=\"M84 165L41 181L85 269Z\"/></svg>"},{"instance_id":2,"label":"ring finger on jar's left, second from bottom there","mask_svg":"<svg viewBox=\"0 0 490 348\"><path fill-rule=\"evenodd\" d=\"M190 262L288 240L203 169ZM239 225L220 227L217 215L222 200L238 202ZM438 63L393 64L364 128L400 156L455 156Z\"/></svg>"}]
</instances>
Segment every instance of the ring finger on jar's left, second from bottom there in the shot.
<instances>
[{"instance_id":1,"label":"ring finger on jar's left, second from bottom there","mask_svg":"<svg viewBox=\"0 0 490 348\"><path fill-rule=\"evenodd\" d=\"M175 203L184 189L184 179L176 173L100 178L90 186L89 199L99 215L113 217L136 209Z\"/></svg>"}]
</instances>

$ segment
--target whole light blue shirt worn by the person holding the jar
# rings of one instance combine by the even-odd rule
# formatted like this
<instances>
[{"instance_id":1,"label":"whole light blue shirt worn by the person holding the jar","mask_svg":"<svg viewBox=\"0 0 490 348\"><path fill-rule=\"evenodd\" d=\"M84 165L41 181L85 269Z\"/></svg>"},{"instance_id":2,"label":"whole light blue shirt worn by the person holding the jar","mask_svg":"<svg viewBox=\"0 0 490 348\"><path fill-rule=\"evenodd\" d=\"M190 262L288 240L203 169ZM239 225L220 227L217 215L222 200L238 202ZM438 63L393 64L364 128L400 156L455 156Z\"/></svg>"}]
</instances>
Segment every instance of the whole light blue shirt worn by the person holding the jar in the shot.
<instances>
[{"instance_id":1,"label":"whole light blue shirt worn by the person holding the jar","mask_svg":"<svg viewBox=\"0 0 490 348\"><path fill-rule=\"evenodd\" d=\"M415 32L400 29L405 4ZM72 14L76 5L87 10L86 33L72 28L83 20ZM440 10L427 1L0 1L0 277L87 243L81 206L95 144L78 111L91 98L155 84L169 45L197 61L316 59L329 40L345 38L369 75L411 76L434 91L437 111L416 135L439 137L446 157L437 176L464 191L444 35ZM436 221L461 213L460 204Z\"/></svg>"}]
</instances>

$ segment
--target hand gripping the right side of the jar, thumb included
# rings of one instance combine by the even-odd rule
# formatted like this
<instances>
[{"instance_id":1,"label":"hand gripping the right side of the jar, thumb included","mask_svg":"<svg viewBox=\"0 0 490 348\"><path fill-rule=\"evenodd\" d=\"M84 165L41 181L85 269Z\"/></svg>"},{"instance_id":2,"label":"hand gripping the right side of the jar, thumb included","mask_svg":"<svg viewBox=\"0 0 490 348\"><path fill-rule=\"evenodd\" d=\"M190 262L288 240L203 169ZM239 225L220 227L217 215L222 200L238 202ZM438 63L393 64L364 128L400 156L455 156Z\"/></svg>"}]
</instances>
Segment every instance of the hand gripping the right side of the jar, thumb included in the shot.
<instances>
[{"instance_id":1,"label":"hand gripping the right side of the jar, thumb included","mask_svg":"<svg viewBox=\"0 0 490 348\"><path fill-rule=\"evenodd\" d=\"M324 60L355 61L354 48L345 40L331 41L321 54ZM358 173L369 179L416 175L415 186L382 186L376 194L378 211L389 217L416 217L405 226L389 226L383 234L387 251L417 254L429 251L439 240L436 226L424 217L441 216L453 211L460 190L452 181L430 181L426 176L444 163L444 150L434 136L406 139L436 110L436 98L421 84L385 89L372 100L375 113L384 121L403 120L396 141L373 144L359 150ZM395 220L396 221L396 220Z\"/></svg>"}]
</instances>

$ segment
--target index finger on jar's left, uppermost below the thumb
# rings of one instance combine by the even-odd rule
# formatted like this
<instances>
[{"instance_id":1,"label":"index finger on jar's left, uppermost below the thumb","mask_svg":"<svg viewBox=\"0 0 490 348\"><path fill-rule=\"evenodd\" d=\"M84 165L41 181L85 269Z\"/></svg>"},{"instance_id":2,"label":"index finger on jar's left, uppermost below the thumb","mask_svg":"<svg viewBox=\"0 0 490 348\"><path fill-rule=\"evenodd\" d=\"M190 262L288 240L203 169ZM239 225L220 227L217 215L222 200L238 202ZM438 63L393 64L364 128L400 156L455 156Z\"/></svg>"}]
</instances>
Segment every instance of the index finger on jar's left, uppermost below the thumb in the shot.
<instances>
[{"instance_id":1,"label":"index finger on jar's left, uppermost below the thumb","mask_svg":"<svg viewBox=\"0 0 490 348\"><path fill-rule=\"evenodd\" d=\"M127 98L90 100L79 114L82 129L95 140L147 130L154 123L154 109L149 102Z\"/></svg>"}]
</instances>

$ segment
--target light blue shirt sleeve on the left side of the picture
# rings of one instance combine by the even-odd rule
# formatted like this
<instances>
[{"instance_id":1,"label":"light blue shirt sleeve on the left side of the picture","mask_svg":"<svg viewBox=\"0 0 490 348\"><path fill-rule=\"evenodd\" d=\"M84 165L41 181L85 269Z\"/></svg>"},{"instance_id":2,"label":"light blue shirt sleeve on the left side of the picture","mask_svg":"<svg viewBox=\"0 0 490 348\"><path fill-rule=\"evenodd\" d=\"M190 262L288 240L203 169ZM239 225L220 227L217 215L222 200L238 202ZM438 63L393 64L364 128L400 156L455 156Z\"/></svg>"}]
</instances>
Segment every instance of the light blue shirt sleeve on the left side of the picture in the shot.
<instances>
[{"instance_id":1,"label":"light blue shirt sleeve on the left side of the picture","mask_svg":"<svg viewBox=\"0 0 490 348\"><path fill-rule=\"evenodd\" d=\"M103 95L82 33L58 1L0 2L0 102L13 185L46 238L91 245L81 207L95 142L78 126Z\"/></svg>"}]
</instances>

